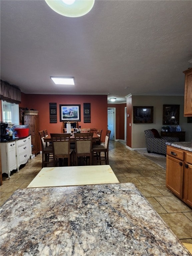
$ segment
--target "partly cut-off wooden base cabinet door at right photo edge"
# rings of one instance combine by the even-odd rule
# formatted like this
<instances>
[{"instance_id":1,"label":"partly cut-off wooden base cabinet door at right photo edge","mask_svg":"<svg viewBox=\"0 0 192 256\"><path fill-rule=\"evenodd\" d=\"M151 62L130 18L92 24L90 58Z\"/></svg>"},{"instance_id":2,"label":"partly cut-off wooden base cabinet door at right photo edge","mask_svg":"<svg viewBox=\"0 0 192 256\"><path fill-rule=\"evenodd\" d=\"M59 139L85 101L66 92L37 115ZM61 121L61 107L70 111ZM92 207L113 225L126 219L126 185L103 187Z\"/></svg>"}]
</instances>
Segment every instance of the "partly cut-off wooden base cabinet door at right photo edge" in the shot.
<instances>
[{"instance_id":1,"label":"partly cut-off wooden base cabinet door at right photo edge","mask_svg":"<svg viewBox=\"0 0 192 256\"><path fill-rule=\"evenodd\" d=\"M192 164L185 164L184 201L192 207Z\"/></svg>"}]
</instances>

